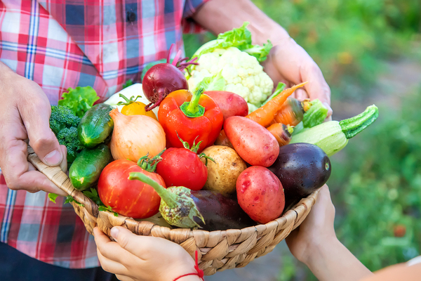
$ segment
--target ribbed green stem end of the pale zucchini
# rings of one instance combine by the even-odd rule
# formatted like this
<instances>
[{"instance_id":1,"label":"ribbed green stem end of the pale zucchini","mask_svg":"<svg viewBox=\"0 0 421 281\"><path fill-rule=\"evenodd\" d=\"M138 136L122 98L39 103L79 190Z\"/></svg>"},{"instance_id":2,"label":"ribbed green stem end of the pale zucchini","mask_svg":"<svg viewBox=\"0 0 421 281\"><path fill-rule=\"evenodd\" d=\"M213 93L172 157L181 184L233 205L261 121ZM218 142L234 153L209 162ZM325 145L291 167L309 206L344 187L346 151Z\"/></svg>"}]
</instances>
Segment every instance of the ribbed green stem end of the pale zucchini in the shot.
<instances>
[{"instance_id":1,"label":"ribbed green stem end of the pale zucchini","mask_svg":"<svg viewBox=\"0 0 421 281\"><path fill-rule=\"evenodd\" d=\"M345 133L347 138L356 136L359 132L370 126L371 123L375 122L375 119L379 116L379 110L377 106L370 105L364 110L364 112L345 119L339 122L342 132Z\"/></svg>"}]
</instances>

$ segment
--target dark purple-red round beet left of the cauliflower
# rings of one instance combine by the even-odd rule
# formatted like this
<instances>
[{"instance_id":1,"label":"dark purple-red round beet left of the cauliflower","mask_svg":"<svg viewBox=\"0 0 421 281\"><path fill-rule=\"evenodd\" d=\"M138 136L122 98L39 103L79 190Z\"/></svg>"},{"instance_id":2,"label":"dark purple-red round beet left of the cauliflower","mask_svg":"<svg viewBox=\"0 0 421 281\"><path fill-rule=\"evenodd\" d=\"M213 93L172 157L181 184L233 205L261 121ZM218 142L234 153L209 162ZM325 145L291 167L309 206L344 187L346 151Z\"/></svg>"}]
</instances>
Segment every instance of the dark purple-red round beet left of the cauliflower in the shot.
<instances>
[{"instance_id":1,"label":"dark purple-red round beet left of the cauliflower","mask_svg":"<svg viewBox=\"0 0 421 281\"><path fill-rule=\"evenodd\" d=\"M154 109L169 93L177 90L188 90L187 79L182 72L170 63L159 63L151 67L142 80L142 89L151 102L146 111Z\"/></svg>"}]
</instances>

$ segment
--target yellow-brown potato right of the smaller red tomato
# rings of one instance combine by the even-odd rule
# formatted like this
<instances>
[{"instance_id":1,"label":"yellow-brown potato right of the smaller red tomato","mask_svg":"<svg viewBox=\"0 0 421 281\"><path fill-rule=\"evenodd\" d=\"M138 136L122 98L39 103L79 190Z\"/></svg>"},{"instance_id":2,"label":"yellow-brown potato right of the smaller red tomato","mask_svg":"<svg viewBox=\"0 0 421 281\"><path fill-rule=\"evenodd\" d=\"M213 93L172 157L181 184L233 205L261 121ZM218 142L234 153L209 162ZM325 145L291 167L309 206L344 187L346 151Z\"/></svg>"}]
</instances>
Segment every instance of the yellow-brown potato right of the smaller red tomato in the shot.
<instances>
[{"instance_id":1,"label":"yellow-brown potato right of the smaller red tomato","mask_svg":"<svg viewBox=\"0 0 421 281\"><path fill-rule=\"evenodd\" d=\"M203 150L203 153L216 162L208 160L208 180L203 190L213 190L223 195L234 193L236 179L247 168L246 162L227 146L213 145ZM201 160L204 163L206 159Z\"/></svg>"}]
</instances>

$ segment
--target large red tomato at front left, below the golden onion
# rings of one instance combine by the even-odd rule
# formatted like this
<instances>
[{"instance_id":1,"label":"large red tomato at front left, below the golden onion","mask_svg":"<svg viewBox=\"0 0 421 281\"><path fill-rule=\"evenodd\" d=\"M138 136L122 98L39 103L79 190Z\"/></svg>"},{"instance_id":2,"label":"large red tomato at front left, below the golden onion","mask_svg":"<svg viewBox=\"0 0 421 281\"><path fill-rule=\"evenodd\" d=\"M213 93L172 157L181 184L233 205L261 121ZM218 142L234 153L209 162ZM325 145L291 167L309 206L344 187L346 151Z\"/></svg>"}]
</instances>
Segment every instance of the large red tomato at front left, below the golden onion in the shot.
<instances>
[{"instance_id":1,"label":"large red tomato at front left, below the golden onion","mask_svg":"<svg viewBox=\"0 0 421 281\"><path fill-rule=\"evenodd\" d=\"M159 174L140 168L135 162L119 159L102 170L98 181L98 195L102 203L113 211L132 218L149 218L158 213L161 197L152 186L141 181L131 181L128 176L139 171L166 188Z\"/></svg>"}]
</instances>

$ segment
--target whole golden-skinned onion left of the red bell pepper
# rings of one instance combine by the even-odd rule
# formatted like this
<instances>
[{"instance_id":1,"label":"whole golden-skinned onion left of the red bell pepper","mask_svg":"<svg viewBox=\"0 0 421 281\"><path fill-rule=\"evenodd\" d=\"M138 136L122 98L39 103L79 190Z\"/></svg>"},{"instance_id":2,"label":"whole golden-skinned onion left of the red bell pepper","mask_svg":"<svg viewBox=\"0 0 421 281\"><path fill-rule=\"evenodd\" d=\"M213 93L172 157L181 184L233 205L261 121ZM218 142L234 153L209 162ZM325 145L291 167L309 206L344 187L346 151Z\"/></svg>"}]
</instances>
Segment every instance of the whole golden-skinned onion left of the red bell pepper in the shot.
<instances>
[{"instance_id":1,"label":"whole golden-skinned onion left of the red bell pepper","mask_svg":"<svg viewBox=\"0 0 421 281\"><path fill-rule=\"evenodd\" d=\"M123 115L112 110L114 121L110 149L114 159L129 159L137 162L149 153L154 157L166 146L165 132L161 124L145 115Z\"/></svg>"}]
</instances>

